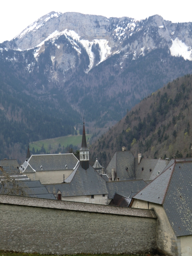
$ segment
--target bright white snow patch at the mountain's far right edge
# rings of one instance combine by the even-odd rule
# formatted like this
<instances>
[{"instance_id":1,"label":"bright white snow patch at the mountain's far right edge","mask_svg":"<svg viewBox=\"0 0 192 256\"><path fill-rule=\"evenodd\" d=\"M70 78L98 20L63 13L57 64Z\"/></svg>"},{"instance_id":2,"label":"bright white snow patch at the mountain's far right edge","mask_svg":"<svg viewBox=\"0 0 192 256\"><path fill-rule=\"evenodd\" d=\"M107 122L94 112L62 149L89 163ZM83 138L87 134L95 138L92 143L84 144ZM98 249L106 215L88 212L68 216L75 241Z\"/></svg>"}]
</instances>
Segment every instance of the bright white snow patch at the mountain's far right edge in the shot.
<instances>
[{"instance_id":1,"label":"bright white snow patch at the mountain's far right edge","mask_svg":"<svg viewBox=\"0 0 192 256\"><path fill-rule=\"evenodd\" d=\"M179 40L178 37L174 41L172 40L170 52L172 56L182 56L185 60L192 60L192 49Z\"/></svg>"}]
</instances>

